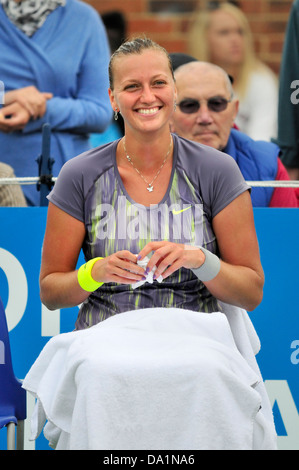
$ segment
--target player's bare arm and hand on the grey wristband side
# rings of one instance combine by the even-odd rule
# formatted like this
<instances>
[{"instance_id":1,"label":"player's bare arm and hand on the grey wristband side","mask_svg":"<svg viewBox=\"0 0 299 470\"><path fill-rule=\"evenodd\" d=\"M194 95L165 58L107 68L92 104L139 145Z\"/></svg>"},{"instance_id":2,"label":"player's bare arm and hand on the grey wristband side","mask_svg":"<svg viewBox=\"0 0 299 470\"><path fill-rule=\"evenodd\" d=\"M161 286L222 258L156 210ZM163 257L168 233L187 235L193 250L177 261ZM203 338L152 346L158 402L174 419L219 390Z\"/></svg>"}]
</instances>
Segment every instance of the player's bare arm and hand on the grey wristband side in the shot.
<instances>
[{"instance_id":1,"label":"player's bare arm and hand on the grey wristband side","mask_svg":"<svg viewBox=\"0 0 299 470\"><path fill-rule=\"evenodd\" d=\"M243 193L217 214L213 228L221 254L221 269L205 285L219 300L253 310L262 300L264 274L249 193ZM205 261L200 249L175 243L149 243L140 256L143 258L151 251L154 254L148 268L158 266L157 277L163 274L166 278L181 267L198 268Z\"/></svg>"}]
</instances>

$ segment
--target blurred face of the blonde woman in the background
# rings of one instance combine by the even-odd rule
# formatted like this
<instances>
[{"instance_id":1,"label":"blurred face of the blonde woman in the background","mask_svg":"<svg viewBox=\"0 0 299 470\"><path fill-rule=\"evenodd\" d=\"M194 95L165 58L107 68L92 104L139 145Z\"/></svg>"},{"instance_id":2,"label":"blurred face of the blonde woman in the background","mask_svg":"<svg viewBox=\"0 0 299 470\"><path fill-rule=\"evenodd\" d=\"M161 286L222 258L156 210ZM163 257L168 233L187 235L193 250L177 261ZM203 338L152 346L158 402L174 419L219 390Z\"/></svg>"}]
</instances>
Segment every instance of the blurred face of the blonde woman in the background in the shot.
<instances>
[{"instance_id":1,"label":"blurred face of the blonde woman in the background","mask_svg":"<svg viewBox=\"0 0 299 470\"><path fill-rule=\"evenodd\" d=\"M245 55L244 31L230 13L216 10L211 14L208 41L211 62L223 68L242 64Z\"/></svg>"}]
</instances>

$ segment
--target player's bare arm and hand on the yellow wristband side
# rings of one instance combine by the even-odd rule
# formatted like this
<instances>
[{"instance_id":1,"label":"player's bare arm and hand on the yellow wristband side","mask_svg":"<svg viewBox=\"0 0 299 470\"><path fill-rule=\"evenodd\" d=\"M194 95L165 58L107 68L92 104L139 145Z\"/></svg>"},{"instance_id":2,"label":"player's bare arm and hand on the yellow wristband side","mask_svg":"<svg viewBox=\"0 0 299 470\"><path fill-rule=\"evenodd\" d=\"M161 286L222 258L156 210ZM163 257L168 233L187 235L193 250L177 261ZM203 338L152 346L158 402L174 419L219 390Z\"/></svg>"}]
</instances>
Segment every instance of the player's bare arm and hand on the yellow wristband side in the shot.
<instances>
[{"instance_id":1,"label":"player's bare arm and hand on the yellow wristband side","mask_svg":"<svg viewBox=\"0 0 299 470\"><path fill-rule=\"evenodd\" d=\"M40 295L50 310L73 307L90 295L80 287L76 270L84 237L85 226L82 222L49 204ZM131 284L142 279L144 269L137 266L135 255L120 251L97 261L91 274L98 282Z\"/></svg>"}]
</instances>

